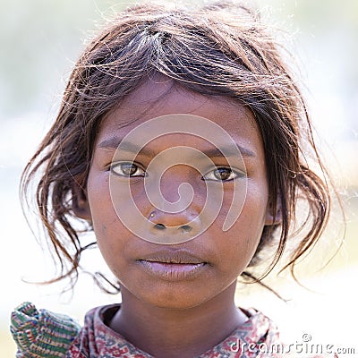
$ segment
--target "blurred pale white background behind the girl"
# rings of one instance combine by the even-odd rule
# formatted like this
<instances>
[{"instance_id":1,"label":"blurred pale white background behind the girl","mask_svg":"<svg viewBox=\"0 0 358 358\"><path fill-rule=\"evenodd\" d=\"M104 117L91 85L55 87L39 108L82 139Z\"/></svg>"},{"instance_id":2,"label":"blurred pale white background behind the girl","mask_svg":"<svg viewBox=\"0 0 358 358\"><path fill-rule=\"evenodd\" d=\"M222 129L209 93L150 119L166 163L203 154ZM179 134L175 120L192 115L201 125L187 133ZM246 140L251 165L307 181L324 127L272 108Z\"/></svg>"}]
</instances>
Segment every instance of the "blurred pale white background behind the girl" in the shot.
<instances>
[{"instance_id":1,"label":"blurred pale white background behind the girl","mask_svg":"<svg viewBox=\"0 0 358 358\"><path fill-rule=\"evenodd\" d=\"M0 0L1 357L14 356L9 314L23 301L78 320L94 305L119 301L119 297L101 294L86 275L72 294L64 295L58 294L63 286L33 286L22 281L41 281L49 277L52 267L22 216L18 185L23 166L55 118L83 40L90 38L90 31L104 16L127 4L131 3ZM339 216L333 217L332 230L303 265L303 283L316 293L273 277L271 283L292 301L282 303L255 288L250 294L238 292L237 302L265 311L292 343L309 333L317 343L355 347L358 356L358 2L257 0L256 4L270 23L292 34L287 46L306 86L321 149L339 188L345 191L348 225L343 250L324 271L315 273L324 258L320 250L334 251L342 221ZM85 259L94 270L104 267L95 251Z\"/></svg>"}]
</instances>

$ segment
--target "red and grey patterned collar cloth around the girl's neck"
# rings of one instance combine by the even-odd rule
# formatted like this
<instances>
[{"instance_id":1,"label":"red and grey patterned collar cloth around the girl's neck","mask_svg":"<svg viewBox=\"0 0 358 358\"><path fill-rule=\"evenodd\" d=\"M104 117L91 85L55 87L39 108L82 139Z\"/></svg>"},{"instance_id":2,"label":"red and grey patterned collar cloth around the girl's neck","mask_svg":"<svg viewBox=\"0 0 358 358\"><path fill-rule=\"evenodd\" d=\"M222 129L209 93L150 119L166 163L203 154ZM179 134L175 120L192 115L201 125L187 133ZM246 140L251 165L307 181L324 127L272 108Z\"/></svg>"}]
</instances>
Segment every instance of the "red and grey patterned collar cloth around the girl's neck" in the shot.
<instances>
[{"instance_id":1,"label":"red and grey patterned collar cloth around the girl's neck","mask_svg":"<svg viewBox=\"0 0 358 358\"><path fill-rule=\"evenodd\" d=\"M86 315L85 325L73 341L67 358L153 358L129 343L104 323L113 317L119 305L95 308ZM281 358L287 354L263 352L265 347L280 345L276 326L259 311L249 310L243 326L236 328L220 344L197 358ZM282 351L281 351L282 353Z\"/></svg>"}]
</instances>

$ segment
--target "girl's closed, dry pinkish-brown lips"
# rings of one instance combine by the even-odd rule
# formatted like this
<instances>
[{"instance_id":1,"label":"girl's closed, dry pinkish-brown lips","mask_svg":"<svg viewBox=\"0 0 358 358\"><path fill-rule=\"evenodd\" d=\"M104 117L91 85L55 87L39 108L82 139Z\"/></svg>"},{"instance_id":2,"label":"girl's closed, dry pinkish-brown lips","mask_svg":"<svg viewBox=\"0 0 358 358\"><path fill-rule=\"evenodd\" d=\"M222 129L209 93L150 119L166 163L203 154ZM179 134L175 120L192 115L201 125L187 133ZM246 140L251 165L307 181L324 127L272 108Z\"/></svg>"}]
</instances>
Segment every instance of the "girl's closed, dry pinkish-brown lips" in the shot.
<instances>
[{"instance_id":1,"label":"girl's closed, dry pinkish-brown lips","mask_svg":"<svg viewBox=\"0 0 358 358\"><path fill-rule=\"evenodd\" d=\"M151 276L167 281L193 278L208 265L190 251L169 249L152 252L138 261Z\"/></svg>"}]
</instances>

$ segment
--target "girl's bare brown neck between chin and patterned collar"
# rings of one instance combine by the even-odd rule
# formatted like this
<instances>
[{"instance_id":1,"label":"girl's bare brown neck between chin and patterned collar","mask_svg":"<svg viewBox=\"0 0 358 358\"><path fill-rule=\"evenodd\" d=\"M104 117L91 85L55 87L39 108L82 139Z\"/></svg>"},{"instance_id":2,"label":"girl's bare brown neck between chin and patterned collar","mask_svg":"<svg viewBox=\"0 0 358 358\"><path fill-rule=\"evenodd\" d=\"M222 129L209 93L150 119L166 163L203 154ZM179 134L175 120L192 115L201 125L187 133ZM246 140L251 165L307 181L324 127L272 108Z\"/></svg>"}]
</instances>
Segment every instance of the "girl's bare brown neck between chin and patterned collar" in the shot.
<instances>
[{"instance_id":1,"label":"girl's bare brown neck between chin and patterned collar","mask_svg":"<svg viewBox=\"0 0 358 358\"><path fill-rule=\"evenodd\" d=\"M143 303L123 288L121 310L110 327L155 357L196 356L219 344L247 320L234 305L234 290L235 284L209 302L175 310Z\"/></svg>"}]
</instances>

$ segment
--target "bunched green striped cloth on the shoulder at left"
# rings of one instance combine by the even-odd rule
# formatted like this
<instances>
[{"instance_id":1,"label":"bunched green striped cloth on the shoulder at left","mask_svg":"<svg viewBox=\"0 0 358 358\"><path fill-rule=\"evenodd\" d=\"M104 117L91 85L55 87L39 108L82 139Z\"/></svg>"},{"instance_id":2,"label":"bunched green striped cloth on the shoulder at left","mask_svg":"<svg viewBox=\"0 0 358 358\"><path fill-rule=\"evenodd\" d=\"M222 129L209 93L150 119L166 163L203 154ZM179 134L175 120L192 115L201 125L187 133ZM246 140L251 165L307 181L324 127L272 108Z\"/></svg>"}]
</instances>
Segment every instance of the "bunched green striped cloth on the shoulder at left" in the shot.
<instances>
[{"instance_id":1,"label":"bunched green striped cloth on the shoulder at left","mask_svg":"<svg viewBox=\"0 0 358 358\"><path fill-rule=\"evenodd\" d=\"M18 358L64 357L80 329L71 317L37 310L32 303L22 303L11 315Z\"/></svg>"}]
</instances>

